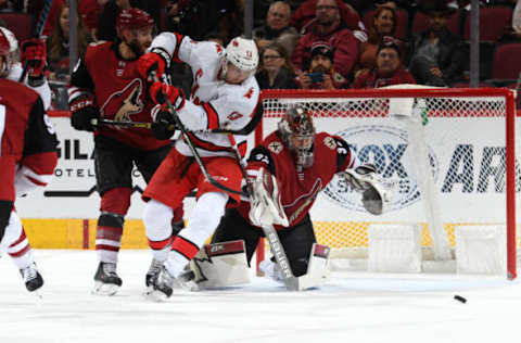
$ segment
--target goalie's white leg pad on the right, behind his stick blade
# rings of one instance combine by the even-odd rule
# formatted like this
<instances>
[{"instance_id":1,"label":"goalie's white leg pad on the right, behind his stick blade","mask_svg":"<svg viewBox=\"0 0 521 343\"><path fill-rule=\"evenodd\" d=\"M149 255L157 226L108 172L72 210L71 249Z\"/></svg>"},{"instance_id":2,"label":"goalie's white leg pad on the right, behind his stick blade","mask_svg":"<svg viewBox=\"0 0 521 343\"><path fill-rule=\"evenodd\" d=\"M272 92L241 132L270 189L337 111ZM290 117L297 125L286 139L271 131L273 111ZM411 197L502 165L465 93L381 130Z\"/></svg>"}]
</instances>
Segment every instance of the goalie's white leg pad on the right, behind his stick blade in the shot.
<instances>
[{"instance_id":1,"label":"goalie's white leg pad on the right, behind his stick blade","mask_svg":"<svg viewBox=\"0 0 521 343\"><path fill-rule=\"evenodd\" d=\"M296 278L296 291L305 291L322 287L330 278L329 252L327 245L314 243L309 254L309 263L305 275ZM279 266L270 259L263 261L259 265L260 270L266 277L284 283L284 277Z\"/></svg>"}]
</instances>

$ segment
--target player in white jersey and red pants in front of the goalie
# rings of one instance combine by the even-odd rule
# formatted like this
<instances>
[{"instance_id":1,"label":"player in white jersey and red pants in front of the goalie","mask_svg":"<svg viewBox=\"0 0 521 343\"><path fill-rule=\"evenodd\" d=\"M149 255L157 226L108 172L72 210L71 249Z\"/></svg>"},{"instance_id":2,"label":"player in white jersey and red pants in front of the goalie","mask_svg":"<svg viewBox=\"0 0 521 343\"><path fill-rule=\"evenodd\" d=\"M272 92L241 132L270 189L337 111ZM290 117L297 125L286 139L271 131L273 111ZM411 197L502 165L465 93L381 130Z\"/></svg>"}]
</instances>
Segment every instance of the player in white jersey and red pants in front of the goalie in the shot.
<instances>
[{"instance_id":1,"label":"player in white jersey and red pants in front of the goalie","mask_svg":"<svg viewBox=\"0 0 521 343\"><path fill-rule=\"evenodd\" d=\"M170 61L182 61L191 66L193 88L190 98L186 99L178 88L153 84L150 96L158 103L153 111L154 120L170 124L171 116L177 115L190 131L189 137L209 175L234 192L225 191L205 179L183 140L178 140L163 161L143 192L148 201L143 213L147 237L149 241L165 243L164 249L153 251L161 272L154 279L152 291L163 298L171 295L174 279L182 279L183 268L217 228L228 200L240 199L242 173L232 145L237 143L244 155L246 136L207 131L243 129L254 117L259 96L254 78L258 52L253 40L237 37L224 49L215 42L163 33L154 39L150 52L141 56L138 69L143 77L152 71L161 77ZM165 106L165 94L176 114ZM198 201L188 218L188 227L171 238L173 208L182 204L183 198L194 189Z\"/></svg>"}]
</instances>

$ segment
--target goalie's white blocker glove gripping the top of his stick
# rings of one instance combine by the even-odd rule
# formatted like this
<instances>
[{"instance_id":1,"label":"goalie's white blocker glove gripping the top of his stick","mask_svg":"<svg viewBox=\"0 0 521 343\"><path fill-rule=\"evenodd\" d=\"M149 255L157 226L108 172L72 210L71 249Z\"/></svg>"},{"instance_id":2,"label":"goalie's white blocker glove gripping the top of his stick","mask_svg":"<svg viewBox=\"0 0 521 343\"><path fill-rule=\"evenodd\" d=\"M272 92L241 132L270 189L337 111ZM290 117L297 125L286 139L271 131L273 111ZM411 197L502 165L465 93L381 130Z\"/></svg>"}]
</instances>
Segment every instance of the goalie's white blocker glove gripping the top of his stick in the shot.
<instances>
[{"instance_id":1,"label":"goalie's white blocker glove gripping the top of his stick","mask_svg":"<svg viewBox=\"0 0 521 343\"><path fill-rule=\"evenodd\" d=\"M258 227L278 224L289 226L275 176L260 168L252 182L252 199L250 200L250 220Z\"/></svg>"}]
</instances>

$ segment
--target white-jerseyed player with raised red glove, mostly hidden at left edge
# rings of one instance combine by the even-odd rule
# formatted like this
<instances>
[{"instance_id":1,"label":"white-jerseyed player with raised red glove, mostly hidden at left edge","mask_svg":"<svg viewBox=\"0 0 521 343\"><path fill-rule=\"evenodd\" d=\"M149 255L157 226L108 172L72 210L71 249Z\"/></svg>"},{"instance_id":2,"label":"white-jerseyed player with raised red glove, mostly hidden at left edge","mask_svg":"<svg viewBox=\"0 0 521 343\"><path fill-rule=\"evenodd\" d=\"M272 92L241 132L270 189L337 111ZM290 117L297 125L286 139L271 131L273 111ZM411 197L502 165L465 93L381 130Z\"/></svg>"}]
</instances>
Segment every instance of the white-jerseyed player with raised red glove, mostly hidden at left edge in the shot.
<instances>
[{"instance_id":1,"label":"white-jerseyed player with raised red glove, mostly hidden at left edge","mask_svg":"<svg viewBox=\"0 0 521 343\"><path fill-rule=\"evenodd\" d=\"M5 27L0 26L0 30L9 42L9 54L7 55L4 67L0 73L2 77L17 82L23 74L22 63L27 62L29 64L28 75L24 79L24 85L33 88L43 101L45 110L49 110L51 105L51 88L43 75L43 68L46 66L46 43L40 39L28 39L22 42L20 48L18 61L18 41L12 31Z\"/></svg>"}]
</instances>

